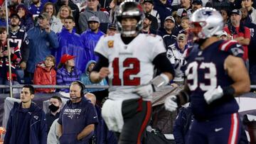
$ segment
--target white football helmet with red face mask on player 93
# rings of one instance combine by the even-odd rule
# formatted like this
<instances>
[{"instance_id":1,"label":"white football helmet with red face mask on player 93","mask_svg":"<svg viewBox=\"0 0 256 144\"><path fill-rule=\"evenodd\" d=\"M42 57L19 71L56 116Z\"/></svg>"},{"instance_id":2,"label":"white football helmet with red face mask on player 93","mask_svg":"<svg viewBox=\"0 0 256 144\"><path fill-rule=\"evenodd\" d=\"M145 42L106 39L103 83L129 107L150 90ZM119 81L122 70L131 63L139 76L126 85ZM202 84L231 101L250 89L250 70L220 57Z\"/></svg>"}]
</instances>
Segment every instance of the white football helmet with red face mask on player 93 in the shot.
<instances>
[{"instance_id":1,"label":"white football helmet with red face mask on player 93","mask_svg":"<svg viewBox=\"0 0 256 144\"><path fill-rule=\"evenodd\" d=\"M192 14L190 21L191 28L189 31L197 39L206 39L213 35L218 35L223 30L224 25L221 14L208 7L196 10Z\"/></svg>"}]
</instances>

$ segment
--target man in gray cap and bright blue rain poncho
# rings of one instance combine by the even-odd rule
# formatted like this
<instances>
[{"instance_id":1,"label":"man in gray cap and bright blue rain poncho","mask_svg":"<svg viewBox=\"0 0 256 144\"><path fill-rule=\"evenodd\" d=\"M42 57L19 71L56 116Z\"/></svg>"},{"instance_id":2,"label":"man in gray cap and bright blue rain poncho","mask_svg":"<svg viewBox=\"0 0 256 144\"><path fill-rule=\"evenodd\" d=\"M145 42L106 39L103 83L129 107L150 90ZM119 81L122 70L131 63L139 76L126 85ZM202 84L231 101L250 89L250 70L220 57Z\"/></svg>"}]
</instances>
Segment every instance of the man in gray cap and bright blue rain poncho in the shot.
<instances>
[{"instance_id":1,"label":"man in gray cap and bright blue rain poncho","mask_svg":"<svg viewBox=\"0 0 256 144\"><path fill-rule=\"evenodd\" d=\"M100 31L100 19L97 16L92 16L88 19L89 29L81 34L82 43L85 46L85 52L90 57L89 60L96 60L97 57L94 53L95 46L97 42L100 40L102 35L105 35L102 31Z\"/></svg>"}]
</instances>

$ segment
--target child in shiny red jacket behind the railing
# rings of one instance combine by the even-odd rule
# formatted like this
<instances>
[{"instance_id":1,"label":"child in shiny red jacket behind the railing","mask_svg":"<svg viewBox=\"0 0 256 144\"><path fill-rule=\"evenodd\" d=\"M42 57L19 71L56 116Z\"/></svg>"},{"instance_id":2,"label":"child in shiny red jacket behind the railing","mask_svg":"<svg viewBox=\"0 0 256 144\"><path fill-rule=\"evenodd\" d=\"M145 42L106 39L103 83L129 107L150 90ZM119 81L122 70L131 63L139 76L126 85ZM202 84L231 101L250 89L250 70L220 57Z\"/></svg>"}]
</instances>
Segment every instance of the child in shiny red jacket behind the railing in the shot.
<instances>
[{"instance_id":1,"label":"child in shiny red jacket behind the railing","mask_svg":"<svg viewBox=\"0 0 256 144\"><path fill-rule=\"evenodd\" d=\"M33 84L40 85L55 85L56 84L56 71L55 71L55 57L48 55L44 62L39 62L36 65L34 72ZM36 93L53 93L55 89L36 89Z\"/></svg>"}]
</instances>

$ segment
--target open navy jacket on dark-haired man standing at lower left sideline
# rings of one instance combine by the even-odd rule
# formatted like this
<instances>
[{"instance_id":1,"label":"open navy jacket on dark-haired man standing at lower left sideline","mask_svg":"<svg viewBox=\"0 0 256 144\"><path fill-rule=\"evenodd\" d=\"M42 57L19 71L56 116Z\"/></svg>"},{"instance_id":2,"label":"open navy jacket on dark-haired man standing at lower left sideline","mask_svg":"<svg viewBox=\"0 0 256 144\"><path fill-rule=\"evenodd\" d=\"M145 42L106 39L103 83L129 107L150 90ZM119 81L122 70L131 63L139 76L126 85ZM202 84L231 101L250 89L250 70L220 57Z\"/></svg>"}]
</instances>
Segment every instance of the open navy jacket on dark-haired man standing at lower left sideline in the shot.
<instances>
[{"instance_id":1,"label":"open navy jacket on dark-haired man standing at lower left sideline","mask_svg":"<svg viewBox=\"0 0 256 144\"><path fill-rule=\"evenodd\" d=\"M9 114L9 119L6 128L6 135L4 137L4 144L16 144L17 136L17 125L20 121L18 119L18 113L21 109L21 104L17 102L14 103L14 108L11 109ZM23 121L29 121L29 142L26 144L46 144L47 139L47 126L46 126L46 114L43 110L36 106L36 104L31 103ZM22 143L21 143L22 144Z\"/></svg>"}]
</instances>

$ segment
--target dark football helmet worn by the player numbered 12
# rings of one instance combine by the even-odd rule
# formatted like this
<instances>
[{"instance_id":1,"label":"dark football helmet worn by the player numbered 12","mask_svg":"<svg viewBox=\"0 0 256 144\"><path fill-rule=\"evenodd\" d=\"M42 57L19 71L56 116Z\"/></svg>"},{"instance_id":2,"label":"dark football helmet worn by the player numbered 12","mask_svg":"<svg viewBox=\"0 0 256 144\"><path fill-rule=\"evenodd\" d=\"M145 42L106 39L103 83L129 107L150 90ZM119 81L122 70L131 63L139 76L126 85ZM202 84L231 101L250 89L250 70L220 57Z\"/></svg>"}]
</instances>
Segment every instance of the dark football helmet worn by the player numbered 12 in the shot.
<instances>
[{"instance_id":1,"label":"dark football helmet worn by the player numbered 12","mask_svg":"<svg viewBox=\"0 0 256 144\"><path fill-rule=\"evenodd\" d=\"M126 0L120 4L115 12L115 18L117 21L117 30L124 36L131 36L143 28L143 21L145 18L145 14L142 6L133 0ZM122 18L136 18L137 25L132 28L132 30L125 30L122 26Z\"/></svg>"}]
</instances>

